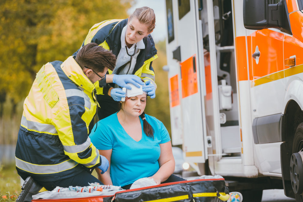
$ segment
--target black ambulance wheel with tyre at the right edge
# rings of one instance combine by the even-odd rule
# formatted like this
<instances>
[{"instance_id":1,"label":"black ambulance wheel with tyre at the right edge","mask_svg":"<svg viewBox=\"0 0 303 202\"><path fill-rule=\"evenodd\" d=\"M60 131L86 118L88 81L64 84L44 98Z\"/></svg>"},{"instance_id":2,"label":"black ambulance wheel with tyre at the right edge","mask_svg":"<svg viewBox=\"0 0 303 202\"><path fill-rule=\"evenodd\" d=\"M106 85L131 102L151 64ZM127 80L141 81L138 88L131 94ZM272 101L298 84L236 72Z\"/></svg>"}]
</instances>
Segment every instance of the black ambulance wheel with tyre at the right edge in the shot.
<instances>
[{"instance_id":1,"label":"black ambulance wheel with tyre at the right edge","mask_svg":"<svg viewBox=\"0 0 303 202\"><path fill-rule=\"evenodd\" d=\"M290 159L291 186L295 193L296 202L303 202L303 164L301 155L303 149L303 123L299 124L295 132ZM302 153L302 152L300 152Z\"/></svg>"}]
</instances>

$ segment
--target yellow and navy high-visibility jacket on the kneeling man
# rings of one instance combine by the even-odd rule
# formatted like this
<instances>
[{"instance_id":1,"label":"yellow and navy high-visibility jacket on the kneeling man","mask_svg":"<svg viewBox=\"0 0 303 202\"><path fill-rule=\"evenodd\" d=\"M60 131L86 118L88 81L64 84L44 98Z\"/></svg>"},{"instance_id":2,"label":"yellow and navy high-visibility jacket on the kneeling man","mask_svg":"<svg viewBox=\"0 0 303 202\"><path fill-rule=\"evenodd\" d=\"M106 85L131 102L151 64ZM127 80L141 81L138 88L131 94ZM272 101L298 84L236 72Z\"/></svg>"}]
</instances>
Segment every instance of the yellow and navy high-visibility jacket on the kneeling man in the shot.
<instances>
[{"instance_id":1,"label":"yellow and navy high-visibility jacket on the kneeling man","mask_svg":"<svg viewBox=\"0 0 303 202\"><path fill-rule=\"evenodd\" d=\"M95 86L72 56L43 65L23 105L18 174L54 181L99 166L99 151L88 137L96 103Z\"/></svg>"}]
</instances>

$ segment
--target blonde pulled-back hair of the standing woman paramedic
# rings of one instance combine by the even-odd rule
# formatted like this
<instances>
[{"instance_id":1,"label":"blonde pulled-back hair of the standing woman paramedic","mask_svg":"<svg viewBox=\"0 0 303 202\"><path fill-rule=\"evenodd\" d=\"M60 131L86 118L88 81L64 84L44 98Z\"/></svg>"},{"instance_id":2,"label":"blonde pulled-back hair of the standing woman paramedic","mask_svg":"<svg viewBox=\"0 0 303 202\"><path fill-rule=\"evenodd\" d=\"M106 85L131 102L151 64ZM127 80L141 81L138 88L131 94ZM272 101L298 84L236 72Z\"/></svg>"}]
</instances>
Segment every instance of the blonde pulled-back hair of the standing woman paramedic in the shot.
<instances>
[{"instance_id":1,"label":"blonde pulled-back hair of the standing woman paramedic","mask_svg":"<svg viewBox=\"0 0 303 202\"><path fill-rule=\"evenodd\" d=\"M148 26L148 33L151 33L151 31L154 30L156 23L156 16L153 9L147 6L136 8L133 14L129 16L129 21L133 17L138 18L140 23L146 24Z\"/></svg>"}]
</instances>

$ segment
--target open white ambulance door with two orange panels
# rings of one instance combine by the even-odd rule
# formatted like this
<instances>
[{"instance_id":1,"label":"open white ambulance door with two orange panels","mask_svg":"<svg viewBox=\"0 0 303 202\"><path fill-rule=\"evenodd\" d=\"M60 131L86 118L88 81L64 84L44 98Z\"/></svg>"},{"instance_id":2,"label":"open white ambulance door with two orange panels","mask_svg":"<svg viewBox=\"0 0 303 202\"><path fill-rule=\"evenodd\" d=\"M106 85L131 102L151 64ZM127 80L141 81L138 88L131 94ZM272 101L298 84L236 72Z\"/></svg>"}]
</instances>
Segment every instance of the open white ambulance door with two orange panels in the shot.
<instances>
[{"instance_id":1,"label":"open white ambulance door with two orange panels","mask_svg":"<svg viewBox=\"0 0 303 202\"><path fill-rule=\"evenodd\" d=\"M205 163L208 158L203 41L198 6L198 1L194 0L166 0L172 144L182 144L185 161L190 163Z\"/></svg>"}]
</instances>

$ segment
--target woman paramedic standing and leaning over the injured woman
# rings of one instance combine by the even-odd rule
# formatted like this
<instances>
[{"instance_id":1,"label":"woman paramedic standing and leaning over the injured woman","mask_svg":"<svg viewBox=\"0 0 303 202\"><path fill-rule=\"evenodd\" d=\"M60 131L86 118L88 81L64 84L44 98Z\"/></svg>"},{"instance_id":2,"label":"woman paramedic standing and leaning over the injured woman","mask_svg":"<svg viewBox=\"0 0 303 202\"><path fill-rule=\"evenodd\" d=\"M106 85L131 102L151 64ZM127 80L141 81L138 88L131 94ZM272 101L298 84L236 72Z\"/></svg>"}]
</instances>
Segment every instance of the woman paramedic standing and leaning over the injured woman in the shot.
<instances>
[{"instance_id":1,"label":"woman paramedic standing and leaning over the injured woman","mask_svg":"<svg viewBox=\"0 0 303 202\"><path fill-rule=\"evenodd\" d=\"M155 21L153 9L146 6L137 8L127 19L105 20L92 26L82 47L95 42L111 50L116 55L117 61L115 69L109 70L108 74L132 74L141 77L146 84L145 91L151 98L155 98L157 86L151 64L158 56L150 35L155 28ZM118 101L121 101L121 93L124 94L124 92L114 85L108 84L102 90L97 88L97 100L101 106L101 110L98 111L99 119L119 111Z\"/></svg>"}]
</instances>

